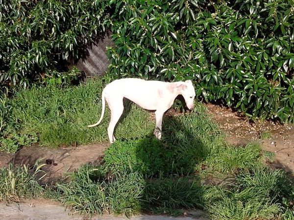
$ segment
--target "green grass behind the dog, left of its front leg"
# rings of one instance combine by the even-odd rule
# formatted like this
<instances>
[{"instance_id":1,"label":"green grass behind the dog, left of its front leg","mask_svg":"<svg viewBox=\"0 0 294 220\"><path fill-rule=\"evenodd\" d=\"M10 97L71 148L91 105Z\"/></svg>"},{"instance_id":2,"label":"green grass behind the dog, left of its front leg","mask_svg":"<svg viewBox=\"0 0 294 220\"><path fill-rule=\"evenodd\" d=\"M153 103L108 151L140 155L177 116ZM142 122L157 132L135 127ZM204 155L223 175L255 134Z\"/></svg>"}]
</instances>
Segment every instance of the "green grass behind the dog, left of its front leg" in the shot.
<instances>
[{"instance_id":1,"label":"green grass behind the dog, left of its front leg","mask_svg":"<svg viewBox=\"0 0 294 220\"><path fill-rule=\"evenodd\" d=\"M12 139L13 133L31 136L33 140L39 140L40 145L50 147L107 141L108 110L101 125L87 127L97 122L100 116L101 90L102 81L98 80L78 87L48 86L20 90L9 102L2 98L3 106L10 108L9 117L1 120L2 124L5 123L1 137ZM117 137L126 139L147 135L154 126L154 122L149 120L149 113L129 103L125 106L129 112L117 126ZM6 111L3 115L8 114ZM1 150L15 152L17 147L11 148L10 145L3 141Z\"/></svg>"}]
</instances>

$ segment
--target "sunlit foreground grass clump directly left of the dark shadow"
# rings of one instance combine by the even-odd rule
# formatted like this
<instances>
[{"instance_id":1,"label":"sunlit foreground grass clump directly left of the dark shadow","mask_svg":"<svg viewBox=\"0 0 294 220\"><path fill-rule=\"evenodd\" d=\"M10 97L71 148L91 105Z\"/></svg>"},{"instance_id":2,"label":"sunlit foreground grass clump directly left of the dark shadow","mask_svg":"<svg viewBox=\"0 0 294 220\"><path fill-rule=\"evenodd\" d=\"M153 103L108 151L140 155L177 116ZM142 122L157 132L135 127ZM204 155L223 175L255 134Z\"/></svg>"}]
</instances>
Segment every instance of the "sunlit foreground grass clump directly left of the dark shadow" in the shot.
<instances>
[{"instance_id":1,"label":"sunlit foreground grass clump directly left of the dark shadow","mask_svg":"<svg viewBox=\"0 0 294 220\"><path fill-rule=\"evenodd\" d=\"M138 173L114 174L107 180L103 168L84 166L70 184L59 184L60 198L74 212L102 214L105 211L131 214L141 210L144 179Z\"/></svg>"}]
</instances>

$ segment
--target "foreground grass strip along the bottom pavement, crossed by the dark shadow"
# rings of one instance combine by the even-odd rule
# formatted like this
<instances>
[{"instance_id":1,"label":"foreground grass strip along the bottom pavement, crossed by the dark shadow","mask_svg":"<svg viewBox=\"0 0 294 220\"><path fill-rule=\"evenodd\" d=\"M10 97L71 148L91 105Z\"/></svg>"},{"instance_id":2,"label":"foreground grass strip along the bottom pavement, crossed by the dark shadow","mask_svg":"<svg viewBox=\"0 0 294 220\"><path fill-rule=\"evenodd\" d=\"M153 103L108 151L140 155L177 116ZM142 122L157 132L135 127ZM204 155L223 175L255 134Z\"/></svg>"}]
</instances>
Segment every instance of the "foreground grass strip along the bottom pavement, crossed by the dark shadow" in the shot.
<instances>
[{"instance_id":1,"label":"foreground grass strip along the bottom pavement, crossed by the dark shadow","mask_svg":"<svg viewBox=\"0 0 294 220\"><path fill-rule=\"evenodd\" d=\"M259 166L241 171L223 187L203 185L197 176L146 178L138 171L109 173L105 165L87 165L59 189L65 205L88 215L203 208L213 220L293 218L291 181L281 170Z\"/></svg>"}]
</instances>

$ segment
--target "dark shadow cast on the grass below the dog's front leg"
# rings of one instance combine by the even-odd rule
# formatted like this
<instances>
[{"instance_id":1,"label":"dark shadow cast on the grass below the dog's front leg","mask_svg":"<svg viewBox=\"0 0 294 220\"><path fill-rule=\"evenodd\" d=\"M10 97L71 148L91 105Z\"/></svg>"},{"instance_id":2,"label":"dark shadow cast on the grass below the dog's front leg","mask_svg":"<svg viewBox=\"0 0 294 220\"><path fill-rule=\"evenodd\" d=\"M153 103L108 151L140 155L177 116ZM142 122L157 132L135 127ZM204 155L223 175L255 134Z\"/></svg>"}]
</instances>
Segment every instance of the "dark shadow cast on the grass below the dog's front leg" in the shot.
<instances>
[{"instance_id":1,"label":"dark shadow cast on the grass below the dog's front leg","mask_svg":"<svg viewBox=\"0 0 294 220\"><path fill-rule=\"evenodd\" d=\"M204 208L204 187L197 169L201 169L209 149L187 125L177 117L165 116L162 140L155 139L152 133L139 145L136 160L141 164L133 171L145 176L143 211L174 214L175 210L183 213ZM207 218L204 212L196 215Z\"/></svg>"}]
</instances>

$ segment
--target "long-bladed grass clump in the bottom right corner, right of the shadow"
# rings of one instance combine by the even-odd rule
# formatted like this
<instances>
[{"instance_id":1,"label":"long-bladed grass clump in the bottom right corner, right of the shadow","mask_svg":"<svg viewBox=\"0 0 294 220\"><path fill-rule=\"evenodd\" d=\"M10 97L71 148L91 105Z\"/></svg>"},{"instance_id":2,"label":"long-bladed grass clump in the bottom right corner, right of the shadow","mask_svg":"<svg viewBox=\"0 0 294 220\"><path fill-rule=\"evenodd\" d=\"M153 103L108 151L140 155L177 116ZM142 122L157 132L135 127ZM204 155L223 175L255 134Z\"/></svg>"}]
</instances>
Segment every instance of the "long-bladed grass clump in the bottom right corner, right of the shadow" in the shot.
<instances>
[{"instance_id":1,"label":"long-bladed grass clump in the bottom right corner, right of the shadow","mask_svg":"<svg viewBox=\"0 0 294 220\"><path fill-rule=\"evenodd\" d=\"M256 166L238 174L227 188L208 186L203 198L212 219L273 219L284 212L282 201L291 189L285 172Z\"/></svg>"}]
</instances>

